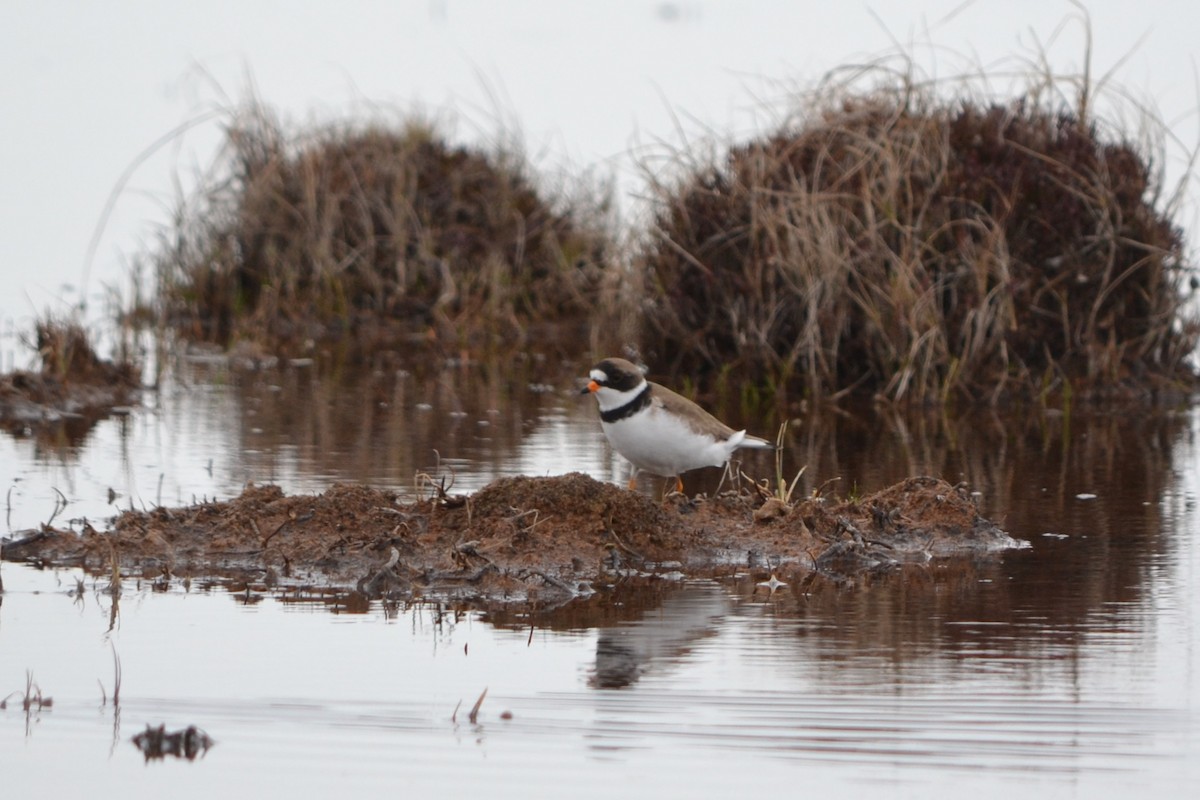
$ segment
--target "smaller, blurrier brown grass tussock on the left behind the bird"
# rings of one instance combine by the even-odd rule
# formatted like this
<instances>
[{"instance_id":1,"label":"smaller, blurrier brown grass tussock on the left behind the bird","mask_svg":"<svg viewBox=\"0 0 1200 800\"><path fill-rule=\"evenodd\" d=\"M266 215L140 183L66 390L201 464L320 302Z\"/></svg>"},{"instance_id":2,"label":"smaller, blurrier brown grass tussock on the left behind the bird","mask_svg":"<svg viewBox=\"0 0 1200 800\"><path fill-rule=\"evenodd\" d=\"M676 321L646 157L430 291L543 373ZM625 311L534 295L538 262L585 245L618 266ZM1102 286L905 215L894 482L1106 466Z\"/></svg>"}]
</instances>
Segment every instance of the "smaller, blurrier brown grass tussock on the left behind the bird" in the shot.
<instances>
[{"instance_id":1,"label":"smaller, blurrier brown grass tussock on the left behind the bird","mask_svg":"<svg viewBox=\"0 0 1200 800\"><path fill-rule=\"evenodd\" d=\"M455 146L421 122L288 136L251 106L226 160L156 258L188 338L478 350L596 305L607 199L547 199L515 146Z\"/></svg>"}]
</instances>

